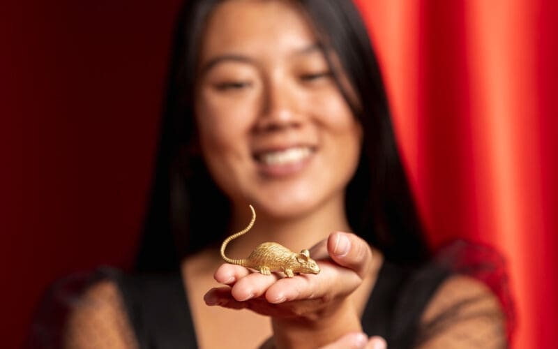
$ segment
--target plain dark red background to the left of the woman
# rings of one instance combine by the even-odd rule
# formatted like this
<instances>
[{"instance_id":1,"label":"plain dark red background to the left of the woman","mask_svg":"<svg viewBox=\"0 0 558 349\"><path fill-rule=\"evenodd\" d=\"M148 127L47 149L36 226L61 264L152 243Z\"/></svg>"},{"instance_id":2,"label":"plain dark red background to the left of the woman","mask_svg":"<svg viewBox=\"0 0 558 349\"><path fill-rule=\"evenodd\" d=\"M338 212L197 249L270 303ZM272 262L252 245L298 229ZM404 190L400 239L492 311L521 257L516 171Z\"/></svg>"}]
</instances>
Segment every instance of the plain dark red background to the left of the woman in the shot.
<instances>
[{"instance_id":1,"label":"plain dark red background to the left of the woman","mask_svg":"<svg viewBox=\"0 0 558 349\"><path fill-rule=\"evenodd\" d=\"M2 348L17 348L57 277L130 263L179 3L0 10Z\"/></svg>"}]
</instances>

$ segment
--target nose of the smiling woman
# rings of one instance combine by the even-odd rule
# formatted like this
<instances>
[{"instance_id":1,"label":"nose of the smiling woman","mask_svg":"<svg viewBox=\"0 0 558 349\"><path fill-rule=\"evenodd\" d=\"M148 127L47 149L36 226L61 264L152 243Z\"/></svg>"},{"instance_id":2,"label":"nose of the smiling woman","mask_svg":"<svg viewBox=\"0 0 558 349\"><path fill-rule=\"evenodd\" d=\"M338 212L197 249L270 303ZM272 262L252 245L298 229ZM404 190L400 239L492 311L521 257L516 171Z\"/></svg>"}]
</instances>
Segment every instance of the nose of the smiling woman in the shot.
<instances>
[{"instance_id":1,"label":"nose of the smiling woman","mask_svg":"<svg viewBox=\"0 0 558 349\"><path fill-rule=\"evenodd\" d=\"M287 82L276 78L264 84L257 130L272 132L301 126L302 117L298 105L296 92Z\"/></svg>"}]
</instances>

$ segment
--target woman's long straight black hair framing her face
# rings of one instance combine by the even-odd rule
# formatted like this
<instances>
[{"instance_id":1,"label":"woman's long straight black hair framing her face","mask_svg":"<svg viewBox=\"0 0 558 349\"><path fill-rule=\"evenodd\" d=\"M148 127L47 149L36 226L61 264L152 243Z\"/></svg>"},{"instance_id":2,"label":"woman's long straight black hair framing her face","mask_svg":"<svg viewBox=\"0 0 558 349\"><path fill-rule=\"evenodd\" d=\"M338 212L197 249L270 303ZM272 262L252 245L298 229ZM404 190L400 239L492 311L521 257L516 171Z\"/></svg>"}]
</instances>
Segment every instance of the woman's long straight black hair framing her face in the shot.
<instances>
[{"instance_id":1,"label":"woman's long straight black hair framing her face","mask_svg":"<svg viewBox=\"0 0 558 349\"><path fill-rule=\"evenodd\" d=\"M222 1L190 0L179 13L137 272L176 269L182 258L220 243L227 228L229 202L195 151L193 112L204 24ZM348 0L291 2L308 17L324 51L338 56L359 98L359 105L349 101L336 78L363 127L359 166L347 186L349 225L386 259L407 265L423 262L428 246L395 143L382 76L359 11ZM329 54L326 59L330 60Z\"/></svg>"}]
</instances>

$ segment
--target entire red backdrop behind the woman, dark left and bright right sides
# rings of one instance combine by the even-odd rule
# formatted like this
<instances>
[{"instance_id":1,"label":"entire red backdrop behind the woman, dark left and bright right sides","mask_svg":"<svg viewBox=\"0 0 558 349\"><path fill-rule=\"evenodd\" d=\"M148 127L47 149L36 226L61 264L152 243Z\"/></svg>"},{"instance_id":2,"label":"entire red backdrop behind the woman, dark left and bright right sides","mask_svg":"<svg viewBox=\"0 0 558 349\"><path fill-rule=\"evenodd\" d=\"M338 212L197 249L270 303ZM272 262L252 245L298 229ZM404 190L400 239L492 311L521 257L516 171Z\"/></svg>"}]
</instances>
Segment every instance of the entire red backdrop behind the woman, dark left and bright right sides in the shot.
<instances>
[{"instance_id":1,"label":"entire red backdrop behind the woman, dark left and bright right sides","mask_svg":"<svg viewBox=\"0 0 558 349\"><path fill-rule=\"evenodd\" d=\"M514 347L551 348L556 6L356 1L430 242L499 248L518 310ZM56 277L130 262L180 2L8 0L0 11L2 347L19 346Z\"/></svg>"}]
</instances>

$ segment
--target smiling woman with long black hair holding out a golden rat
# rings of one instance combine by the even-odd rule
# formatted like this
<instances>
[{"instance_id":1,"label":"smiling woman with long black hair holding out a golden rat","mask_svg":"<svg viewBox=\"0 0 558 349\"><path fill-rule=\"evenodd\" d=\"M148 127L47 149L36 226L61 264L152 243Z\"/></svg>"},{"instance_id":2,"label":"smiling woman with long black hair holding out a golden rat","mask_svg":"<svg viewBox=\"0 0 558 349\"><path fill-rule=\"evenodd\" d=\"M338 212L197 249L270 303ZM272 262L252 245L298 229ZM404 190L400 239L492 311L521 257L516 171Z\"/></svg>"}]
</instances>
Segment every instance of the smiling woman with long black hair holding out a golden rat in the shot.
<instances>
[{"instance_id":1,"label":"smiling woman with long black hair holding out a golden rat","mask_svg":"<svg viewBox=\"0 0 558 349\"><path fill-rule=\"evenodd\" d=\"M66 346L363 348L361 332L389 348L505 346L490 290L426 264L352 2L188 1L181 18L140 275L92 285ZM256 224L227 255L313 246L322 271L223 264L249 204Z\"/></svg>"}]
</instances>

